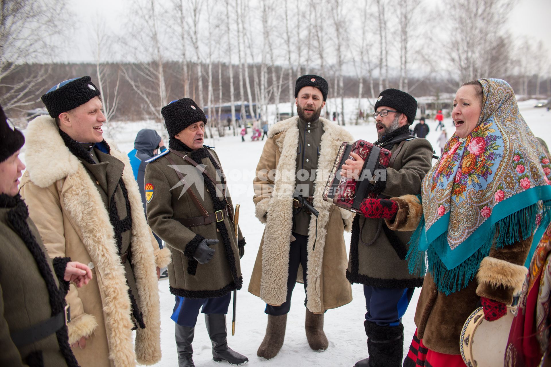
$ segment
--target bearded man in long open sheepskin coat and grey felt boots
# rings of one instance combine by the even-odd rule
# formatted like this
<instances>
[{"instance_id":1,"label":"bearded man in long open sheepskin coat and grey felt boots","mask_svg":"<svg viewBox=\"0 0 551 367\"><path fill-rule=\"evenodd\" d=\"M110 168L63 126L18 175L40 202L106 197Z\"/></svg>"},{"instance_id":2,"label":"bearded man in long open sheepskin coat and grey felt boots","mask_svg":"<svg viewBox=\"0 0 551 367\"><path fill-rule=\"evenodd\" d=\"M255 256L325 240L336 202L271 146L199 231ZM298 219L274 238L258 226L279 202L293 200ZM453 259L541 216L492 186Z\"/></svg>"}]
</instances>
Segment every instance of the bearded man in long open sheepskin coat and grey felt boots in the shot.
<instances>
[{"instance_id":1,"label":"bearded man in long open sheepskin coat and grey felt boots","mask_svg":"<svg viewBox=\"0 0 551 367\"><path fill-rule=\"evenodd\" d=\"M352 300L345 278L343 231L350 230L353 215L323 201L322 193L339 147L353 139L343 128L320 118L327 92L321 76L296 80L298 116L269 129L253 180L255 215L266 228L249 292L266 302L266 336L257 351L264 359L275 357L283 346L296 282L304 283L306 338L318 352L328 347L323 313ZM319 212L317 217L305 201Z\"/></svg>"}]
</instances>

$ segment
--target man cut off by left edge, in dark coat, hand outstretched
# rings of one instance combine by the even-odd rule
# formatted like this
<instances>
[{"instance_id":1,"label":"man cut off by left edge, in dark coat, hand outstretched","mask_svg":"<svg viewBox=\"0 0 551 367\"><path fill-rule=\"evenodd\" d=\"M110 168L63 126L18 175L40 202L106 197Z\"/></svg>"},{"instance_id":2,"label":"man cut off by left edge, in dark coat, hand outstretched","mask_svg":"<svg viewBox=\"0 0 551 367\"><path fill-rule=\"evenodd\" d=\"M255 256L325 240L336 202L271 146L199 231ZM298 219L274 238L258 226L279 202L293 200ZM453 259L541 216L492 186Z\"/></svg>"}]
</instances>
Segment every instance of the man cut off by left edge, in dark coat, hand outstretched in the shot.
<instances>
[{"instance_id":1,"label":"man cut off by left edge, in dark coat, hand outstretched","mask_svg":"<svg viewBox=\"0 0 551 367\"><path fill-rule=\"evenodd\" d=\"M0 365L76 367L64 298L69 281L82 287L92 272L70 258L48 258L17 187L24 143L0 106Z\"/></svg>"}]
</instances>

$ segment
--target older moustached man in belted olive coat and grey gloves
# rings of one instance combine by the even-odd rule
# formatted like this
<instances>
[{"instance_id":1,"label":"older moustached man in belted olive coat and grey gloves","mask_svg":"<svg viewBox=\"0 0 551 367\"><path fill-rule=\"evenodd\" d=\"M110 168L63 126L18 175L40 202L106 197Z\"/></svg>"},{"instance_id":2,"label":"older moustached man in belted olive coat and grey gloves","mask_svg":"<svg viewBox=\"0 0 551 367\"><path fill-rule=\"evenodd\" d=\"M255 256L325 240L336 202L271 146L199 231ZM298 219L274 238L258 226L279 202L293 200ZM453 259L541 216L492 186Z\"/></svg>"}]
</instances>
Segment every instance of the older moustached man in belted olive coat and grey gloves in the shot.
<instances>
[{"instance_id":1,"label":"older moustached man in belted olive coat and grey gloves","mask_svg":"<svg viewBox=\"0 0 551 367\"><path fill-rule=\"evenodd\" d=\"M215 361L242 365L249 359L228 347L226 314L231 291L241 289L239 259L245 239L235 233L234 212L217 154L204 143L207 118L191 98L161 109L169 150L145 167L147 217L172 250L170 292L176 296L179 367L193 364L193 336L199 309L205 314Z\"/></svg>"}]
</instances>

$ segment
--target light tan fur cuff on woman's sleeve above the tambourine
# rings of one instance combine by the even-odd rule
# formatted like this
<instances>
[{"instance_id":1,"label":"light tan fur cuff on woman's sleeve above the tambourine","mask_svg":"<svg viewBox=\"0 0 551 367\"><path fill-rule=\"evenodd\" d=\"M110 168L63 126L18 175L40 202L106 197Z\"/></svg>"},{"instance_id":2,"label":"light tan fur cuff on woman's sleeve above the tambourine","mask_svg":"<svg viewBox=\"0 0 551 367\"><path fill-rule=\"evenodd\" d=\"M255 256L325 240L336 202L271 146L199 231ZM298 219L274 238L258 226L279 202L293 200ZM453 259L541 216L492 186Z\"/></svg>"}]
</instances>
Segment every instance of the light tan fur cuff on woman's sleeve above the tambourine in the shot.
<instances>
[{"instance_id":1,"label":"light tan fur cuff on woman's sleeve above the tambourine","mask_svg":"<svg viewBox=\"0 0 551 367\"><path fill-rule=\"evenodd\" d=\"M520 293L527 272L528 269L525 266L486 256L480 262L477 281L480 285L487 284L491 288L512 288L514 293Z\"/></svg>"}]
</instances>

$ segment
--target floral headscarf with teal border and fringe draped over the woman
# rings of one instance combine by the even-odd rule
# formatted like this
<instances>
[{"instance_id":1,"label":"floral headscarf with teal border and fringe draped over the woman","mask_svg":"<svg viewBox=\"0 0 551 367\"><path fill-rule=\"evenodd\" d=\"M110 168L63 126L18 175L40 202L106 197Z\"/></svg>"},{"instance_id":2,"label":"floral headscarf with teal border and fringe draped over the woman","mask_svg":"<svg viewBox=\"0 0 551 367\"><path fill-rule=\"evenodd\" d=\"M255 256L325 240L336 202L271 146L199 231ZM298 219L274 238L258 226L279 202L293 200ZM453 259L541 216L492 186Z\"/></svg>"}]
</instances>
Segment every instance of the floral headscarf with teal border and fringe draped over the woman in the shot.
<instances>
[{"instance_id":1,"label":"floral headscarf with teal border and fringe draped over the woman","mask_svg":"<svg viewBox=\"0 0 551 367\"><path fill-rule=\"evenodd\" d=\"M408 253L410 271L420 272L426 251L429 272L446 294L467 286L493 244L530 237L551 200L551 165L518 112L511 86L501 79L478 81L483 103L477 126L466 138L453 134L426 174L424 221Z\"/></svg>"}]
</instances>

